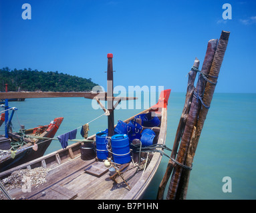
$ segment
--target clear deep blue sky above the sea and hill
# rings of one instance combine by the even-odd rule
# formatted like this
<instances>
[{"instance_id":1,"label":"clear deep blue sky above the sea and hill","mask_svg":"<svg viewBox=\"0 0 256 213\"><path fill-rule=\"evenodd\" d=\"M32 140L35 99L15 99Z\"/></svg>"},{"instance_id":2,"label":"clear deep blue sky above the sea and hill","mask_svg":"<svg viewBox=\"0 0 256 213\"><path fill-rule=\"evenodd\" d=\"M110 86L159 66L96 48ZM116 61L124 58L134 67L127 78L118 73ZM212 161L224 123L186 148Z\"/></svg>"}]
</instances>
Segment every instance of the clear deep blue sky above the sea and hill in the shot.
<instances>
[{"instance_id":1,"label":"clear deep blue sky above the sea and hill","mask_svg":"<svg viewBox=\"0 0 256 213\"><path fill-rule=\"evenodd\" d=\"M31 20L23 20L24 3ZM224 20L224 3L232 19ZM215 92L256 93L256 1L0 0L0 67L59 71L106 89L107 53L114 86L186 91L195 57L231 31Z\"/></svg>"}]
</instances>

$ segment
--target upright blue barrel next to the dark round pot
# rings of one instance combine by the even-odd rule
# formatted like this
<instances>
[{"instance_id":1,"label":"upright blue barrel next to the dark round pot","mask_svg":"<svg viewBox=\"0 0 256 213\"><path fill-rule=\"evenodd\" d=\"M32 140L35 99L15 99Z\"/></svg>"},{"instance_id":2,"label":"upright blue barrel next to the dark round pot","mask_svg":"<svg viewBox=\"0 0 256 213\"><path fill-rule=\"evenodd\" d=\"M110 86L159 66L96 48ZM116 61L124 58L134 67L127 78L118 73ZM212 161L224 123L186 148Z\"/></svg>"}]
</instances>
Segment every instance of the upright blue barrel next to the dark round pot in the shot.
<instances>
[{"instance_id":1,"label":"upright blue barrel next to the dark round pot","mask_svg":"<svg viewBox=\"0 0 256 213\"><path fill-rule=\"evenodd\" d=\"M108 133L106 131L104 132L98 132L96 134L96 151L97 151L97 157L100 160L106 160L108 158Z\"/></svg>"}]
</instances>

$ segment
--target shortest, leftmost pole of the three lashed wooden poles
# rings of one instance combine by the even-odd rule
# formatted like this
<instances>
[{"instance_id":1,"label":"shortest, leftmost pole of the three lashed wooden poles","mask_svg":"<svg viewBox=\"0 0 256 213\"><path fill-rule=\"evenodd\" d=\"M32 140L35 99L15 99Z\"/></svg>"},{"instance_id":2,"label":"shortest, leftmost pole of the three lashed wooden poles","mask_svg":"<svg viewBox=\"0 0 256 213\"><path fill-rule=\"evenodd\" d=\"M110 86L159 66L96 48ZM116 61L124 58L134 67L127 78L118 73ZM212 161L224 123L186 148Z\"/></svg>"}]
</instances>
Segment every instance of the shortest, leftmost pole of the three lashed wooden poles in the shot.
<instances>
[{"instance_id":1,"label":"shortest, leftmost pole of the three lashed wooden poles","mask_svg":"<svg viewBox=\"0 0 256 213\"><path fill-rule=\"evenodd\" d=\"M195 67L196 69L199 69L199 63L200 63L199 59L196 58L194 61L193 67ZM180 142L180 138L183 134L184 127L186 125L186 118L188 117L191 100L193 97L193 93L195 91L194 82L195 82L196 76L197 76L197 71L195 71L195 69L191 69L190 72L188 73L188 85L186 87L186 99L185 99L185 103L184 103L184 108L183 108L182 114L180 116L180 122L178 123L178 128L176 131L176 137L174 140L172 153L170 154L170 157L174 158L174 159L176 158L178 144ZM173 166L174 166L174 164L173 164L172 160L169 160L167 168L166 168L166 172L165 172L164 177L162 178L162 181L160 182L160 186L158 188L158 194L157 194L158 200L162 200L164 197L164 190L165 190L166 184L168 182L168 179L170 178L170 174L172 173Z\"/></svg>"}]
</instances>

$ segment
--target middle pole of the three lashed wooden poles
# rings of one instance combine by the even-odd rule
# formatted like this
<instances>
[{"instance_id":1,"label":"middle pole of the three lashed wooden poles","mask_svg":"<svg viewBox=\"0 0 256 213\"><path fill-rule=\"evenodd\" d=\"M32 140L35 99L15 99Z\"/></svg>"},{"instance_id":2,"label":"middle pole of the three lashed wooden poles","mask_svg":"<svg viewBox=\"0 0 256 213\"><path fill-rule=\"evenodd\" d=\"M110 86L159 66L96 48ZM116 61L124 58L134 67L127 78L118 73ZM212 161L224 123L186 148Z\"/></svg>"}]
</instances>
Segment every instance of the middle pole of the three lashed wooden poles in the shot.
<instances>
[{"instance_id":1,"label":"middle pole of the three lashed wooden poles","mask_svg":"<svg viewBox=\"0 0 256 213\"><path fill-rule=\"evenodd\" d=\"M207 53L205 55L205 60L202 66L203 75L207 76L209 75L211 64L213 62L213 57L215 55L215 50L217 47L217 39L212 39L209 41L207 45ZM200 75L199 81L197 82L197 87L195 89L195 92L197 92L198 97L201 97L201 94L203 93L203 90L205 88L205 78L203 75ZM195 94L195 93L194 93ZM199 99L193 99L188 118L186 120L186 126L184 128L184 133L182 134L182 138L180 141L180 148L178 150L178 154L176 157L176 160L180 162L180 164L184 164L186 159L186 152L188 150L188 145L190 142L190 138L192 136L193 128L195 126L195 123L197 122L197 117L199 114L199 110L201 108L201 101ZM182 174L182 167L181 166L174 166L174 170L172 173L172 178L170 180L170 185L167 192L167 199L175 199L176 193L178 190L178 184L180 182L180 176Z\"/></svg>"}]
</instances>

